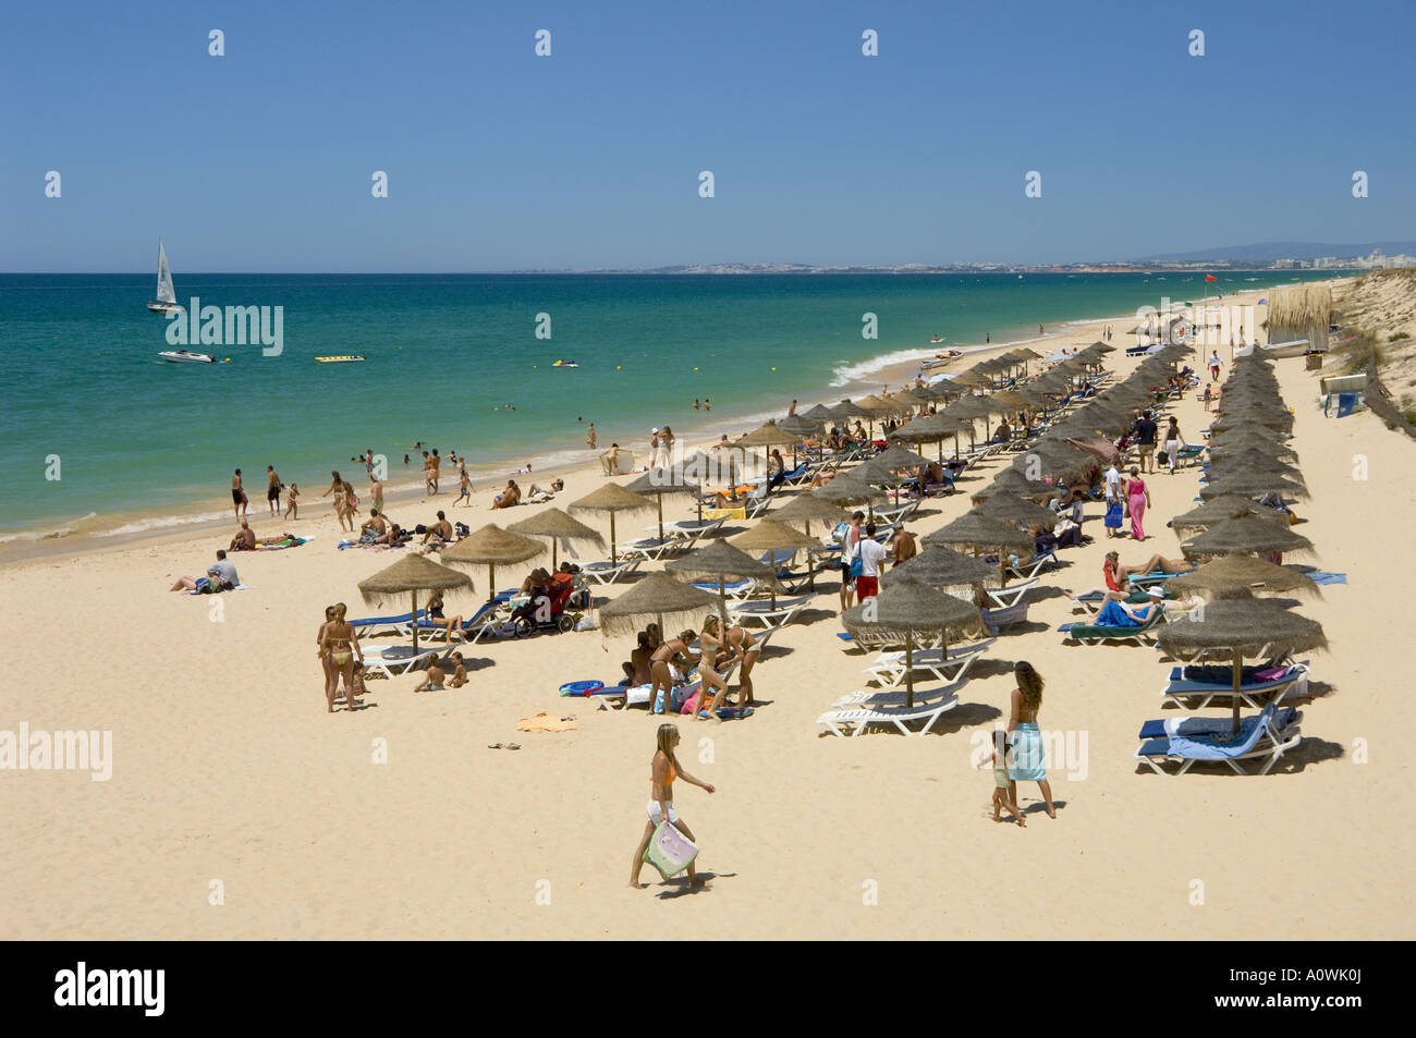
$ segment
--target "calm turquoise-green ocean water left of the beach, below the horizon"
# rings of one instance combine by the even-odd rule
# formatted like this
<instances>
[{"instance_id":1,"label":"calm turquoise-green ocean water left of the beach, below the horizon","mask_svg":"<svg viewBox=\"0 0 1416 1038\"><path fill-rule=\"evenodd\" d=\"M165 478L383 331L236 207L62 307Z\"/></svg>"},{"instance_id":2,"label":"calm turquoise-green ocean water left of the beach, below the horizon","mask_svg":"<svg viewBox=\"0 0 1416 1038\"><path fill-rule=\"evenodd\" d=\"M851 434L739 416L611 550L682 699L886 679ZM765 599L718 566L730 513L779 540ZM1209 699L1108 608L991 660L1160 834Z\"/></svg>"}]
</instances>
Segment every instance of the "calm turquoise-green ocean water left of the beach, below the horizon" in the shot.
<instances>
[{"instance_id":1,"label":"calm turquoise-green ocean water left of the beach, below the horizon","mask_svg":"<svg viewBox=\"0 0 1416 1038\"><path fill-rule=\"evenodd\" d=\"M180 262L180 256L173 256ZM1331 276L1331 275L1308 275ZM1247 282L1246 278L1257 278ZM1287 282L1226 273L1216 290ZM391 483L415 480L415 442L506 472L585 450L595 422L643 449L649 426L875 391L902 354L1022 340L1038 323L1134 313L1204 292L1201 275L581 276L184 275L177 299L283 306L285 348L195 346L229 364L167 364L150 275L0 275L0 534L142 510L170 523L227 497L242 467L252 506L265 466L316 494L372 447ZM879 337L861 336L875 313ZM551 338L537 338L537 314ZM364 364L314 357L364 354ZM552 368L556 358L579 368ZM514 405L514 411L507 409ZM583 418L583 422L578 419ZM416 452L412 452L416 459ZM643 450L640 450L643 453ZM45 479L47 457L61 479ZM494 464L496 463L496 464ZM362 474L362 467L358 467ZM347 473L350 474L350 473ZM253 508L255 513L255 508Z\"/></svg>"}]
</instances>

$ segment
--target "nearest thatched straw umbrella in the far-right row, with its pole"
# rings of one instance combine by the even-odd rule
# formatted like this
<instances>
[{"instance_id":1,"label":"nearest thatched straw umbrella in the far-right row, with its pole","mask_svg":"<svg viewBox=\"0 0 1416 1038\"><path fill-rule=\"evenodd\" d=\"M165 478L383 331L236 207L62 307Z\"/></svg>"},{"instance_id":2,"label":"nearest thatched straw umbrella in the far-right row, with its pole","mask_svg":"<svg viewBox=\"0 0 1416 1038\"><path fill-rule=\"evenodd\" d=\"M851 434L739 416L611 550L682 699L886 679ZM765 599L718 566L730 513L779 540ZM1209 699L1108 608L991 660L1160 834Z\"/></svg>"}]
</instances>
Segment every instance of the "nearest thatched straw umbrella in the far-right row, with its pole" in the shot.
<instances>
[{"instance_id":1,"label":"nearest thatched straw umbrella in the far-right row, with its pole","mask_svg":"<svg viewBox=\"0 0 1416 1038\"><path fill-rule=\"evenodd\" d=\"M1201 649L1233 663L1233 734L1239 732L1239 688L1243 684L1245 656L1300 653L1325 649L1323 626L1298 616L1277 602L1256 598L1232 598L1206 602L1195 619L1167 623L1157 629L1160 647L1185 658Z\"/></svg>"}]
</instances>

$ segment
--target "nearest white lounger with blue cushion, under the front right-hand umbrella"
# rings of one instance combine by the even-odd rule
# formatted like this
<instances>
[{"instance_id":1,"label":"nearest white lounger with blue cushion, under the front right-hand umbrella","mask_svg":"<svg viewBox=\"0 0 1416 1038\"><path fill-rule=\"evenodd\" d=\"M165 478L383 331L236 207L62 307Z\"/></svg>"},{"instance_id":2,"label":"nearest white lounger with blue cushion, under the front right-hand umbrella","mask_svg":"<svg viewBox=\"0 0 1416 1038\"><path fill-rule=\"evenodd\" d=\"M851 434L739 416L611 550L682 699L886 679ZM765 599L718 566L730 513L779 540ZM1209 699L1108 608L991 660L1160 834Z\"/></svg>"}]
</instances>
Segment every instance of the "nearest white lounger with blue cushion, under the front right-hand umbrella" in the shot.
<instances>
[{"instance_id":1,"label":"nearest white lounger with blue cushion, under the front right-hand umbrella","mask_svg":"<svg viewBox=\"0 0 1416 1038\"><path fill-rule=\"evenodd\" d=\"M1260 714L1239 719L1238 738L1231 738L1232 721L1228 718L1147 721L1141 725L1136 759L1157 775L1184 775L1206 760L1222 760L1235 775L1267 775L1286 752L1303 741L1301 719L1303 714L1296 709L1284 708L1280 714L1277 707L1269 704ZM1189 728L1185 728L1187 722ZM1246 770L1250 763L1257 766L1256 772ZM1171 765L1180 766L1167 770Z\"/></svg>"}]
</instances>

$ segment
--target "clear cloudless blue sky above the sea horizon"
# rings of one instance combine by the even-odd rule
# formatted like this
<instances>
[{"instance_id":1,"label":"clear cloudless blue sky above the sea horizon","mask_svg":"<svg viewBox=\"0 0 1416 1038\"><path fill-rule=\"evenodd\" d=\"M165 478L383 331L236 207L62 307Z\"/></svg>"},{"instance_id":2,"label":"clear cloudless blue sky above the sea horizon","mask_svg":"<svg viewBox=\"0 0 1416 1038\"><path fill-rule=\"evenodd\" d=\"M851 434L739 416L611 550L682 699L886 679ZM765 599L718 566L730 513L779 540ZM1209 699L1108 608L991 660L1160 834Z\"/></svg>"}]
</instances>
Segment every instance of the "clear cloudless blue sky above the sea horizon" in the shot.
<instances>
[{"instance_id":1,"label":"clear cloudless blue sky above the sea horizon","mask_svg":"<svg viewBox=\"0 0 1416 1038\"><path fill-rule=\"evenodd\" d=\"M1413 30L1393 1L10 4L0 270L147 270L159 236L188 272L1416 238Z\"/></svg>"}]
</instances>

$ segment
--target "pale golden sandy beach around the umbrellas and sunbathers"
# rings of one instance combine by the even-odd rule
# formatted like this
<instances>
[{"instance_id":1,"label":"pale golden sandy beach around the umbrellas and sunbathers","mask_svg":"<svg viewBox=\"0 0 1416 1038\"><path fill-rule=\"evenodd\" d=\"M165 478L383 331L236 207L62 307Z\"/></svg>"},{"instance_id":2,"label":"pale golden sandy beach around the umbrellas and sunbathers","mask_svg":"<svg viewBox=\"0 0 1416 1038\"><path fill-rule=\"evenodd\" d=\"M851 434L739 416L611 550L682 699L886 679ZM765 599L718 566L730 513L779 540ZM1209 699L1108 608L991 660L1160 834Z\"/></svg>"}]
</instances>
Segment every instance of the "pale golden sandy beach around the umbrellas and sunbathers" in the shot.
<instances>
[{"instance_id":1,"label":"pale golden sandy beach around the umbrellas and sunbathers","mask_svg":"<svg viewBox=\"0 0 1416 1038\"><path fill-rule=\"evenodd\" d=\"M1076 324L1048 344L1085 346L1097 331ZM1136 363L1117 351L1110 370L1124 377ZM875 380L899 387L916 370ZM489 664L464 688L415 695L418 675L370 681L372 708L327 715L314 651L323 610L343 600L351 616L377 612L357 583L401 554L337 551L329 504L307 494L289 528L316 540L235 555L248 589L228 595L167 588L210 565L229 523L0 566L0 624L16 633L0 729L112 732L106 782L64 770L0 780L3 835L23 848L0 865L0 937L641 939L668 923L714 939L1410 939L1403 877L1416 827L1410 797L1392 793L1408 786L1395 735L1416 707L1386 690L1399 690L1409 656L1399 517L1416 508L1412 445L1371 414L1324 418L1301 358L1276 372L1313 491L1296 506L1307 520L1296 530L1317 547L1311 561L1348 583L1301 606L1331 651L1300 656L1313 664L1304 739L1269 776L1161 777L1137 766L1136 734L1163 715L1170 664L1154 649L1066 646L1056 633L1079 617L1061 589L1102 576L1109 542L1093 504L1085 531L1096 540L1062 554L1063 568L1032 593L1029 623L997 641L961 705L922 738L837 739L816 726L837 697L864 687L868 661L835 637L838 575L818 579L803 622L779 632L758 666L753 717L675 718L684 765L716 786L675 797L711 888L690 894L683 877L664 884L646 868L654 882L633 891L626 871L663 718L556 691L612 683L630 640L585 632L479 643L464 654ZM820 399L840 397L823 388ZM1172 414L1201 442L1198 395ZM624 446L644 460L643 445ZM986 462L960 490L981 489L1004 464ZM603 483L589 466L521 481L555 474L561 507ZM1178 557L1164 523L1192 507L1197 477L1191 467L1147 480L1150 537L1119 542L1121 562ZM391 498L389 511L405 525L430 521L455 487L445 474L436 501ZM476 507L449 517L476 530L537 507L493 513L490 493L479 483ZM252 493L258 534L287 528L262 508ZM967 508L967 493L930 500L909 527L923 535ZM666 498L666 518L688 511L687 498ZM622 538L653 520L622 518ZM452 602L459 612L487 592L486 568L469 572L476 593ZM623 591L596 588L596 600ZM55 626L82 633L57 639ZM991 821L991 776L974 766L981 736L1007 721L1017 660L1046 680L1042 728L1076 746L1075 759L1049 763L1056 820L1039 810L1037 786L1021 785L1025 830ZM538 711L573 714L576 726L518 734L518 718ZM521 749L487 748L511 741Z\"/></svg>"}]
</instances>

